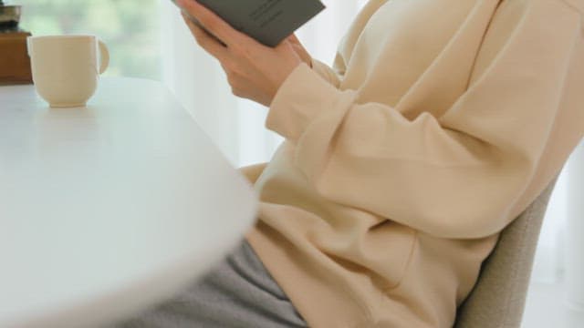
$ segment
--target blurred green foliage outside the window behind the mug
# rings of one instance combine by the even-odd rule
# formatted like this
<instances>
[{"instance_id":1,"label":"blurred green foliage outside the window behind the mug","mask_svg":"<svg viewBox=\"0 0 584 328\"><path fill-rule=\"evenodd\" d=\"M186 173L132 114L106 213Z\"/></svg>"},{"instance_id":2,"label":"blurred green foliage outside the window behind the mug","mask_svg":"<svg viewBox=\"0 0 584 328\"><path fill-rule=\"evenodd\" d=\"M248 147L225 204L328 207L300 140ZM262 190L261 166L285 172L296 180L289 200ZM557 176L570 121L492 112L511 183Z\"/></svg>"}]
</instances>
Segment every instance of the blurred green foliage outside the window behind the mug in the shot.
<instances>
[{"instance_id":1,"label":"blurred green foliage outside the window behind the mug","mask_svg":"<svg viewBox=\"0 0 584 328\"><path fill-rule=\"evenodd\" d=\"M106 76L161 78L159 0L7 0L33 36L90 34L110 48Z\"/></svg>"}]
</instances>

